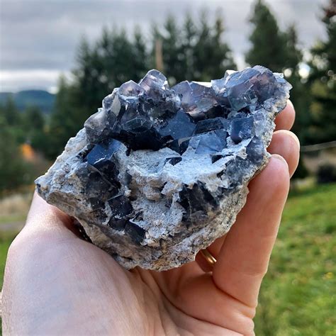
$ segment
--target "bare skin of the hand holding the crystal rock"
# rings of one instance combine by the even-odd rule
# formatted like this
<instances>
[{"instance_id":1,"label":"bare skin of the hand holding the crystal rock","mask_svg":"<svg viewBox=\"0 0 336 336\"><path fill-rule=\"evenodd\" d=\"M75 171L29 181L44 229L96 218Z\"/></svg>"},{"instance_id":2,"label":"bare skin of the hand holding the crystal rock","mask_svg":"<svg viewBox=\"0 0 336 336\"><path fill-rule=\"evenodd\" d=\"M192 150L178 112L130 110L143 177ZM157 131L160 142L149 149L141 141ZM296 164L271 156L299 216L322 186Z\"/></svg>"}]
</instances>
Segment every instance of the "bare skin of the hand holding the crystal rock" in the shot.
<instances>
[{"instance_id":1,"label":"bare skin of the hand holding the crystal rock","mask_svg":"<svg viewBox=\"0 0 336 336\"><path fill-rule=\"evenodd\" d=\"M35 194L9 249L4 335L254 335L259 288L298 164L294 116L289 102L276 118L269 164L250 182L233 228L208 248L217 259L212 272L201 254L169 271L126 271Z\"/></svg>"}]
</instances>

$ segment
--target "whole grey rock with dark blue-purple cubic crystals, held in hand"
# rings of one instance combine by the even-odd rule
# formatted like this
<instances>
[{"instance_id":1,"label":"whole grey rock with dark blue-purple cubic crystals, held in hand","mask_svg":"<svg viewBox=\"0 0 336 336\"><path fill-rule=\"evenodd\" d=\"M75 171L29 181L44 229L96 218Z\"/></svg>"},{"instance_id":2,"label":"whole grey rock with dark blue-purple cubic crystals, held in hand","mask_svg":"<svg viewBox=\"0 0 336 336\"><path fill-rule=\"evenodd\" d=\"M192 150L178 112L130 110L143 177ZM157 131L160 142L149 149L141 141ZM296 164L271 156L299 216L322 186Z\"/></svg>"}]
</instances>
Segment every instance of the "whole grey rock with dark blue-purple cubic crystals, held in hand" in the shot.
<instances>
[{"instance_id":1,"label":"whole grey rock with dark blue-purple cubic crystals, held in hand","mask_svg":"<svg viewBox=\"0 0 336 336\"><path fill-rule=\"evenodd\" d=\"M151 70L103 99L38 193L124 267L177 267L230 230L289 89L260 66L172 88Z\"/></svg>"}]
</instances>

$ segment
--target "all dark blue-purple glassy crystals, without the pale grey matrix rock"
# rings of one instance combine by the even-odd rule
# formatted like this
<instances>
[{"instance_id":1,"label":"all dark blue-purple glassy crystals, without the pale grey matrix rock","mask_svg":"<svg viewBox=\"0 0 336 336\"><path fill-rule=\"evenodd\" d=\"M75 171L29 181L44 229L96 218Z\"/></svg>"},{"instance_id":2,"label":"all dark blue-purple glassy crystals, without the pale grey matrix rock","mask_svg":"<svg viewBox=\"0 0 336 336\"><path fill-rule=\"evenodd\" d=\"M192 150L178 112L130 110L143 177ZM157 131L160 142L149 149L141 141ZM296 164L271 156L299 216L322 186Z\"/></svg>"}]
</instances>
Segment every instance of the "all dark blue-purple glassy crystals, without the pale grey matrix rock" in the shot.
<instances>
[{"instance_id":1,"label":"all dark blue-purple glassy crystals, without the pale grey matrix rock","mask_svg":"<svg viewBox=\"0 0 336 336\"><path fill-rule=\"evenodd\" d=\"M179 163L184 162L184 157L199 155L208 160L205 162L215 164L231 155L230 150L225 150L228 144L233 147L232 142L246 140L246 157L225 163L230 181L227 190L241 184L249 165L260 164L264 159L263 104L283 96L284 84L281 77L275 77L264 67L226 73L222 79L211 81L210 86L184 81L169 88L167 78L157 70L148 72L139 83L130 80L122 84L103 99L103 107L86 121L89 145L77 155L84 160L77 174L86 183L94 213L99 213L107 202L111 208L109 227L123 231L137 244L145 239L145 230L136 224L138 218L133 211L132 201L136 197L126 196L121 187L132 189L133 183L128 172L118 170L121 147L123 155L169 147L178 154L169 153L150 164L183 168ZM218 167L223 163L218 162ZM96 190L104 192L101 195ZM217 208L216 193L224 192L210 192L201 181L192 187L184 185L178 195L185 209L184 219Z\"/></svg>"}]
</instances>

